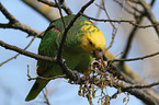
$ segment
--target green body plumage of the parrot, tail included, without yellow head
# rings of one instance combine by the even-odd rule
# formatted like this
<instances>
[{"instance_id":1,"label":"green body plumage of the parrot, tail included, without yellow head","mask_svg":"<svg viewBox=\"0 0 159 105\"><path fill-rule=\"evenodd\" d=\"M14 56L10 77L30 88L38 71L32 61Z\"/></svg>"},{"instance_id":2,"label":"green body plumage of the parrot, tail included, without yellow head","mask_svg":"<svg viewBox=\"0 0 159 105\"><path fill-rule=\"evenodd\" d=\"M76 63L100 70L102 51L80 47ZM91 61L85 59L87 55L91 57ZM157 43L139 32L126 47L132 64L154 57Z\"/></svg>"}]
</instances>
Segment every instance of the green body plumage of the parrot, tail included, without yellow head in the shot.
<instances>
[{"instance_id":1,"label":"green body plumage of the parrot, tail included, without yellow head","mask_svg":"<svg viewBox=\"0 0 159 105\"><path fill-rule=\"evenodd\" d=\"M69 24L70 20L75 15L65 16L66 25ZM77 70L81 73L87 73L90 70L90 65L93 60L93 57L80 47L82 34L86 33L80 28L83 25L87 25L84 22L90 22L88 19L80 16L73 26L69 30L67 38L63 49L63 58L66 59L66 63L69 69ZM92 26L94 26L92 24ZM64 33L64 25L61 19L57 19L50 23L46 30L43 39L41 40L38 47L38 55L55 57L59 47L61 35ZM43 78L53 78L56 75L63 75L61 68L55 62L47 62L44 60L37 61L37 74ZM34 100L39 92L46 86L49 80L46 79L36 79L33 88L31 89L25 101Z\"/></svg>"}]
</instances>

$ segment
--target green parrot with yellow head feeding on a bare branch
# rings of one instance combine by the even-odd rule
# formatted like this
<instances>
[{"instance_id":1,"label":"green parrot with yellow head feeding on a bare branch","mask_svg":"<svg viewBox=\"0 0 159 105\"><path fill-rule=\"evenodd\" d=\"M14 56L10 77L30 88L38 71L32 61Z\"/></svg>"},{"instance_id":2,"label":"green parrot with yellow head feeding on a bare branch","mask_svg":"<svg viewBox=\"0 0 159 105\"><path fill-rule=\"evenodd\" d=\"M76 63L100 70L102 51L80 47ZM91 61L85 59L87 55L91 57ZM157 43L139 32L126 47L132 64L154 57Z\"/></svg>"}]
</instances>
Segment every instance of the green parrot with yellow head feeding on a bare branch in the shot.
<instances>
[{"instance_id":1,"label":"green parrot with yellow head feeding on a bare branch","mask_svg":"<svg viewBox=\"0 0 159 105\"><path fill-rule=\"evenodd\" d=\"M75 14L64 16L67 26ZM63 19L50 22L44 32L38 46L38 55L55 58L65 31ZM88 18L79 16L67 33L63 47L63 59L70 70L82 74L90 74L91 62L100 59L105 49L104 34ZM25 101L34 100L50 81L49 78L64 75L61 67L56 62L37 60L37 78L29 92Z\"/></svg>"}]
</instances>

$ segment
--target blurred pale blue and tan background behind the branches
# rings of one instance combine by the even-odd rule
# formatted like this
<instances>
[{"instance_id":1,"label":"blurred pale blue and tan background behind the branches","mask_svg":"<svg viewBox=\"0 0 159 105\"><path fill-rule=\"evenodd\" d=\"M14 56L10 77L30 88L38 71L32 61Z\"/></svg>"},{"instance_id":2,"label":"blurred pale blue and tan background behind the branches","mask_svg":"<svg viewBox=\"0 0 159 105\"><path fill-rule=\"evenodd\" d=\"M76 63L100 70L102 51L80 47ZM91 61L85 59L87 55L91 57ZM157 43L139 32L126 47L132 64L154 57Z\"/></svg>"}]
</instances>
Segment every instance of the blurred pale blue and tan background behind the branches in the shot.
<instances>
[{"instance_id":1,"label":"blurred pale blue and tan background behind the branches","mask_svg":"<svg viewBox=\"0 0 159 105\"><path fill-rule=\"evenodd\" d=\"M66 0L66 4L76 14L80 8L86 4L89 0ZM122 1L122 0L121 0ZM150 2L151 0L146 0ZM16 20L24 23L37 31L45 31L49 25L49 22L43 18L39 13L34 11L27 4L21 0L0 0L0 2L7 8L7 10L14 15ZM124 2L124 1L123 1ZM101 11L99 13L99 8L95 5L101 3L101 0L95 0L86 11L84 14L92 18L107 19L105 13ZM114 20L133 20L133 16L127 14L116 2L113 0L105 0L105 8L111 19ZM159 1L156 0L152 12L157 21L159 21ZM98 14L99 13L99 14ZM65 13L64 13L65 14ZM9 21L0 12L0 23L8 23ZM95 23L95 22L94 22ZM106 45L109 46L112 40L112 25L106 22L98 22L96 26L104 33L106 38ZM148 25L146 19L143 25ZM125 47L126 39L130 33L132 25L128 23L115 24L117 26L117 34L113 46L110 48L111 52L114 55L120 55ZM19 30L12 28L0 28L0 40L3 40L10 45L24 48L33 38L26 37L27 34ZM41 39L36 38L32 45L27 48L29 51L37 54L37 48ZM137 31L136 36L133 40L130 52L128 58L140 57L148 54L157 52L159 50L158 36L154 28L140 28ZM13 57L16 52L4 49L0 46L0 63L4 60ZM121 55L120 55L121 56ZM120 57L117 56L117 57ZM139 60L130 61L127 65L134 70L139 77L147 80L149 83L159 80L159 56ZM36 100L32 102L25 102L25 96L27 95L31 86L34 83L27 79L27 66L30 69L30 74L34 78L36 60L30 57L20 55L16 59L13 59L0 67L0 105L45 105L44 95L41 93ZM48 98L52 105L89 105L86 97L78 95L79 85L69 84L65 79L56 79L48 83ZM106 88L107 94L113 94L116 92L113 88ZM156 90L158 88L156 86ZM159 91L158 91L159 92ZM100 92L99 92L100 94ZM125 105L123 98L126 97L125 94L121 94L116 100L111 101L111 105ZM94 105L98 105L98 98L93 100ZM144 105L144 103L137 100L135 96L129 95L129 102L127 105Z\"/></svg>"}]
</instances>

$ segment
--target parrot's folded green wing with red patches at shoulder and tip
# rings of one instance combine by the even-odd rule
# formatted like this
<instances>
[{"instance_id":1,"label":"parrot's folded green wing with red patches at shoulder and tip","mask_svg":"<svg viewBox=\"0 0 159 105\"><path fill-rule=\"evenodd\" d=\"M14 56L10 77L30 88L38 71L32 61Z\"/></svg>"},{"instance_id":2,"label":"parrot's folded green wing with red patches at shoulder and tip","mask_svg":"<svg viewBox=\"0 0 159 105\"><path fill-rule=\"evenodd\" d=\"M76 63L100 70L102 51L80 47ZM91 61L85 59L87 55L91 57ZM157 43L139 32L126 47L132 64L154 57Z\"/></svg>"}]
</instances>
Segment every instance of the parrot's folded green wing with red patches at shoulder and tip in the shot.
<instances>
[{"instance_id":1,"label":"parrot's folded green wing with red patches at shoulder and tip","mask_svg":"<svg viewBox=\"0 0 159 105\"><path fill-rule=\"evenodd\" d=\"M41 40L38 47L38 55L54 58L57 55L57 49L58 49L57 37L59 37L60 32L55 26L53 27L49 26L48 28L49 30L46 30L44 37ZM38 60L37 67L47 70L46 68L52 68L52 62ZM37 74L41 73L39 75L43 75L42 72L38 72L38 70L39 69L37 69Z\"/></svg>"}]
</instances>

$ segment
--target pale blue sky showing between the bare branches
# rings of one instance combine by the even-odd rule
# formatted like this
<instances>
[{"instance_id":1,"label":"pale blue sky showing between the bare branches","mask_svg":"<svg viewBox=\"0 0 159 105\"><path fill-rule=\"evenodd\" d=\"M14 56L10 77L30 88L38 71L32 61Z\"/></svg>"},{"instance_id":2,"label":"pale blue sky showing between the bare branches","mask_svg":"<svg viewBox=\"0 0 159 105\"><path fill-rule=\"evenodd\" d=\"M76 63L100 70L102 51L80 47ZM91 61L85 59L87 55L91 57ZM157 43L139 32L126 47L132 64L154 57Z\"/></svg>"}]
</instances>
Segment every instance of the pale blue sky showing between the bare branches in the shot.
<instances>
[{"instance_id":1,"label":"pale blue sky showing between the bare branches","mask_svg":"<svg viewBox=\"0 0 159 105\"><path fill-rule=\"evenodd\" d=\"M18 19L20 22L37 30L37 31L45 31L47 26L49 25L49 22L44 19L42 15L39 15L37 12L33 11L30 7L24 4L21 0L0 0L1 3L8 9L10 13L12 13L15 19ZM70 7L73 13L77 13L83 4L83 2L87 2L88 0L66 0L67 4ZM99 3L99 2L96 2ZM107 8L110 9L113 7L114 3L107 1ZM159 1L157 0L156 5L154 7L152 11L156 15L157 20L159 21L158 15L158 7ZM87 9L86 13L89 15L94 16L94 9L95 5L90 7ZM114 7L113 9L116 9L117 7ZM94 10L93 10L94 9ZM112 9L112 11L113 11ZM91 11L93 10L93 11ZM90 12L91 11L91 12ZM110 10L111 11L111 10ZM122 10L121 10L122 11ZM120 15L118 13L112 13L112 18L115 18L116 15ZM7 23L8 20L3 16L3 14L0 12L0 23ZM105 28L105 25L107 28ZM105 35L111 35L110 28L111 26L107 25L109 23L101 23L98 24L98 27L101 28L101 31ZM120 30L122 33L122 30ZM8 44L18 46L20 48L24 48L32 37L26 37L27 34L18 30L8 30L8 28L0 28L0 40L3 40ZM106 36L105 36L106 37ZM116 36L120 40L120 36ZM111 37L106 38L106 44L109 45L111 40ZM38 44L41 39L36 38L31 47L27 49L32 52L37 52ZM122 43L121 43L122 44ZM117 44L115 44L117 45ZM118 51L117 47L114 49L111 49L112 51ZM117 52L116 51L116 52ZM4 49L0 46L0 62L7 60L10 57L13 57L16 52ZM13 59L9 61L8 63L0 67L0 105L43 105L43 94L39 94L39 96L32 102L25 102L25 96L27 95L31 86L33 85L34 81L27 81L27 66L30 69L30 74L32 77L35 75L35 68L36 68L36 60L32 59L30 57L25 57L23 55L19 56L16 59ZM67 80L65 79L56 79L49 82L47 85L48 88L48 96L49 102L52 105L89 105L87 98L83 98L78 95L79 85L72 85L67 83ZM112 88L106 88L107 93L111 95L116 90ZM99 92L100 93L100 92ZM116 100L111 101L111 105L125 105L123 103L123 98L125 97L125 94L118 95ZM94 105L96 104L96 100L94 101ZM127 105L144 105L143 102L137 100L134 96L129 96L129 103Z\"/></svg>"}]
</instances>

